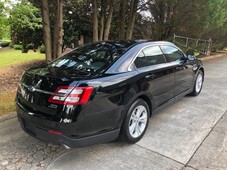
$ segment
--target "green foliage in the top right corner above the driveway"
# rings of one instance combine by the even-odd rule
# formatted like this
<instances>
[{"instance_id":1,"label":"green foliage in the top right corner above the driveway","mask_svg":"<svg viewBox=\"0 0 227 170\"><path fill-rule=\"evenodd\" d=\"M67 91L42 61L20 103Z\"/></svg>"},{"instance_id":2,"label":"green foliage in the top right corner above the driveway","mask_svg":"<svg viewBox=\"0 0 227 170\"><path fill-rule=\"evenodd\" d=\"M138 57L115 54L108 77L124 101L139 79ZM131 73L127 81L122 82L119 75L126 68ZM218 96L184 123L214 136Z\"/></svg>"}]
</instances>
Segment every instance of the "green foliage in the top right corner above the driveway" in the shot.
<instances>
[{"instance_id":1,"label":"green foliage in the top right corner above the driveway","mask_svg":"<svg viewBox=\"0 0 227 170\"><path fill-rule=\"evenodd\" d=\"M197 6L197 11L200 11L197 22L200 22L200 28L194 32L201 37L212 39L212 46L217 49L222 49L227 45L227 1L226 0L206 0L202 1L203 10ZM198 13L198 12L197 12Z\"/></svg>"}]
</instances>

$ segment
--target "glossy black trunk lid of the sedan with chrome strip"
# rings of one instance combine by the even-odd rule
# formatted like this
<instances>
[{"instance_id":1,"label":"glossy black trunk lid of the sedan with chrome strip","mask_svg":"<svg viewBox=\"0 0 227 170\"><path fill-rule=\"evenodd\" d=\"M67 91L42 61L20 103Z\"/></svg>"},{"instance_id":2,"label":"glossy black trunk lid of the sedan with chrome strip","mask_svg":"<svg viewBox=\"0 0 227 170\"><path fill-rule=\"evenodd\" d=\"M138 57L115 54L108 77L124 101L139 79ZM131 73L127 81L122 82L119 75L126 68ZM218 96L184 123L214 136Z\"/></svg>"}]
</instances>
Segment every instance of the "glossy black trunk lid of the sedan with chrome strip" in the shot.
<instances>
[{"instance_id":1,"label":"glossy black trunk lid of the sedan with chrome strip","mask_svg":"<svg viewBox=\"0 0 227 170\"><path fill-rule=\"evenodd\" d=\"M17 100L34 112L55 115L62 105L49 102L58 87L75 87L86 76L71 70L43 67L27 70L20 81Z\"/></svg>"}]
</instances>

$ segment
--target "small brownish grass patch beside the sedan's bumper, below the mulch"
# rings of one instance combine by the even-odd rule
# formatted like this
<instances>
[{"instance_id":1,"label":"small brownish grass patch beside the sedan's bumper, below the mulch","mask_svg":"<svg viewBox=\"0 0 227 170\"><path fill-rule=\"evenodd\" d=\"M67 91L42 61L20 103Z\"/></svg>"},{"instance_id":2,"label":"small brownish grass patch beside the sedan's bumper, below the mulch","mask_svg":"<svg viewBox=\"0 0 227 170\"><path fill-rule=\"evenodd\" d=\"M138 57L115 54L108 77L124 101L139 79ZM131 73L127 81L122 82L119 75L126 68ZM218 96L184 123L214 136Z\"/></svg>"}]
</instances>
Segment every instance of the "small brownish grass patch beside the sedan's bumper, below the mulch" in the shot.
<instances>
[{"instance_id":1,"label":"small brownish grass patch beside the sedan's bumper, below the mulch","mask_svg":"<svg viewBox=\"0 0 227 170\"><path fill-rule=\"evenodd\" d=\"M15 92L0 93L0 116L15 111Z\"/></svg>"}]
</instances>

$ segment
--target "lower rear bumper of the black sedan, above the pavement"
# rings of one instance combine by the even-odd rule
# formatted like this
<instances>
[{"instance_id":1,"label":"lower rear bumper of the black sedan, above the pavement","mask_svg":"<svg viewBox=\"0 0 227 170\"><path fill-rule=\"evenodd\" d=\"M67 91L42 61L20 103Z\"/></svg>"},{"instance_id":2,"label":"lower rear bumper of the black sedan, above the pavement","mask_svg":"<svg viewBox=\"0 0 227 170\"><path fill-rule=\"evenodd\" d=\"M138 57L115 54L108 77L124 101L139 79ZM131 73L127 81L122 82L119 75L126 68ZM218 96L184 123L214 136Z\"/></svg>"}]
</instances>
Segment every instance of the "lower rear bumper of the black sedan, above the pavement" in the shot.
<instances>
[{"instance_id":1,"label":"lower rear bumper of the black sedan, above the pavement","mask_svg":"<svg viewBox=\"0 0 227 170\"><path fill-rule=\"evenodd\" d=\"M34 115L30 115L28 111L21 108L17 105L17 117L21 124L22 129L28 133L29 135L41 139L46 142L54 143L54 144L62 144L67 145L68 147L85 147L97 143L106 143L112 140L115 140L120 132L120 129L111 130L104 133L94 134L86 137L69 137L63 134L52 134L49 133L48 130L55 130L59 132L67 131L67 124L52 122L49 120L42 119L40 117L36 117ZM38 122L42 122L40 126ZM49 128L48 128L49 126ZM53 127L55 127L53 129ZM70 126L73 128L72 126Z\"/></svg>"}]
</instances>

